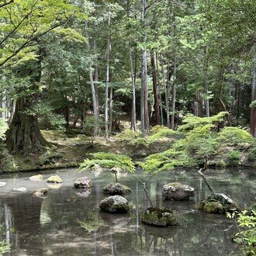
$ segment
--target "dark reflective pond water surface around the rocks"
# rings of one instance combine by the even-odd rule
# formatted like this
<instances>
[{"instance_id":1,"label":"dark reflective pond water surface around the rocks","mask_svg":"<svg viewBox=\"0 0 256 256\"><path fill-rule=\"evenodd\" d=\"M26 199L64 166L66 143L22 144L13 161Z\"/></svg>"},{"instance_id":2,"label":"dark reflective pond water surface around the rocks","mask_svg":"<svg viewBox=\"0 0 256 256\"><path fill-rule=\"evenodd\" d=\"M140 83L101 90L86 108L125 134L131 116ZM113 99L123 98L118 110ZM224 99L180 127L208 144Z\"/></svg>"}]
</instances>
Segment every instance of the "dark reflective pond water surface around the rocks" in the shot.
<instances>
[{"instance_id":1,"label":"dark reflective pond water surface around the rocks","mask_svg":"<svg viewBox=\"0 0 256 256\"><path fill-rule=\"evenodd\" d=\"M162 186L173 182L171 173L163 172L152 178L148 190L157 206L175 209L178 227L149 227L140 222L140 214L149 206L140 182L132 175L123 175L119 181L128 185L132 193L129 214L100 213L99 202L106 198L102 188L114 182L114 176L102 173L78 173L74 169L44 171L42 182L31 182L35 173L1 175L0 182L0 240L12 244L5 255L233 255L238 247L231 241L237 232L226 216L200 213L196 204L209 195L202 178L195 171L175 171L178 182L195 188L195 197L189 202L162 200ZM63 184L50 189L46 179L60 175ZM90 195L74 189L76 178L88 175L93 187ZM256 171L209 170L209 182L216 192L223 192L246 207L255 201ZM146 181L148 176L140 174ZM26 187L27 192L12 192ZM45 199L33 197L35 189L49 188ZM80 194L79 194L80 193ZM79 194L79 195L78 195ZM67 199L76 198L76 202Z\"/></svg>"}]
</instances>

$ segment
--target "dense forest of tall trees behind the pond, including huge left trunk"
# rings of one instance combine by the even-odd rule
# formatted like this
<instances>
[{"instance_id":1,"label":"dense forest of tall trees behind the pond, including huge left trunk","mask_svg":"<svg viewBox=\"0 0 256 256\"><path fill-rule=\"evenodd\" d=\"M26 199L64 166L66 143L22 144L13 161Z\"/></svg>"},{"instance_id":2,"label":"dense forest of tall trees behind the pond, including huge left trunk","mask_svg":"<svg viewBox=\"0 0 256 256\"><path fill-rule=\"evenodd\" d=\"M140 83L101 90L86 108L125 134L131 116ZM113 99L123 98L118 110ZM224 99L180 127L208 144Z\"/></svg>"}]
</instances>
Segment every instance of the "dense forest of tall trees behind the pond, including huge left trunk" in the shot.
<instances>
[{"instance_id":1,"label":"dense forest of tall trees behind the pond, including huge left trunk","mask_svg":"<svg viewBox=\"0 0 256 256\"><path fill-rule=\"evenodd\" d=\"M255 13L253 0L2 0L0 137L36 154L40 128L108 140L120 120L148 133L221 111L255 137Z\"/></svg>"}]
</instances>

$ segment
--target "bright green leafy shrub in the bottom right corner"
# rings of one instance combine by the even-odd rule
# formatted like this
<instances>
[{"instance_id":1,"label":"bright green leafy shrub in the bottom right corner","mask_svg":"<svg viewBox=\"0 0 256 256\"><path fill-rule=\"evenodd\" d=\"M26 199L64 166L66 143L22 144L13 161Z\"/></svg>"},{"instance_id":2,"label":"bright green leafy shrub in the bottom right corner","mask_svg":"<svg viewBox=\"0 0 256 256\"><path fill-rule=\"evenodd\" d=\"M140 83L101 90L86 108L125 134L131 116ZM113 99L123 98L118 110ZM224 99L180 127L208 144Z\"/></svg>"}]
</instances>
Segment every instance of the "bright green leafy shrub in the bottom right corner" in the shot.
<instances>
[{"instance_id":1,"label":"bright green leafy shrub in the bottom right corner","mask_svg":"<svg viewBox=\"0 0 256 256\"><path fill-rule=\"evenodd\" d=\"M239 227L235 241L244 245L244 251L247 255L254 255L256 250L256 211L244 210L242 213L227 213L227 217L234 219Z\"/></svg>"}]
</instances>

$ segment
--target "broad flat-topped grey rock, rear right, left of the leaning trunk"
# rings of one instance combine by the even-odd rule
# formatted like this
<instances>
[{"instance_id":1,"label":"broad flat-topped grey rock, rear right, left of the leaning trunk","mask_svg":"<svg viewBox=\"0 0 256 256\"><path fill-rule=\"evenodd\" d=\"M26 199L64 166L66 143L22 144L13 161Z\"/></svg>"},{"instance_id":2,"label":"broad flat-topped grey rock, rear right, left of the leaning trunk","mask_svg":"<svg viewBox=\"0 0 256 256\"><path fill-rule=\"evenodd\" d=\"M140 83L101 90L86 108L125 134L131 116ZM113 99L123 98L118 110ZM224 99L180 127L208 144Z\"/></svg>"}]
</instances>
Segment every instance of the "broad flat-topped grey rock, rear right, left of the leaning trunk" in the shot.
<instances>
[{"instance_id":1,"label":"broad flat-topped grey rock, rear right, left of the leaning trunk","mask_svg":"<svg viewBox=\"0 0 256 256\"><path fill-rule=\"evenodd\" d=\"M163 187L163 196L167 200L189 200L189 197L194 195L194 188L178 182L172 182Z\"/></svg>"}]
</instances>

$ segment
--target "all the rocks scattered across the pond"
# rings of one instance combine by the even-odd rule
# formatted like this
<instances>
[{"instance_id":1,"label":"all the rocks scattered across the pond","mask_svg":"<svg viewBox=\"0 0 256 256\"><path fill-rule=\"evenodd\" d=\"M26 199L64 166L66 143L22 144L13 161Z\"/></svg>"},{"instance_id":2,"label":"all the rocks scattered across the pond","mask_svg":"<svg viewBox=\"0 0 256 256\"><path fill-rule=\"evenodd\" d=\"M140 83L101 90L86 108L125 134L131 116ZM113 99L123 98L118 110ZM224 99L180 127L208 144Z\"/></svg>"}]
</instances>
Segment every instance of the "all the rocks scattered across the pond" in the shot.
<instances>
[{"instance_id":1,"label":"all the rocks scattered across the pond","mask_svg":"<svg viewBox=\"0 0 256 256\"><path fill-rule=\"evenodd\" d=\"M43 175L33 175L29 178L31 181L42 181ZM5 182L0 182L0 186L6 185ZM61 178L58 175L50 176L47 178L47 184L51 189L59 188L62 183ZM56 188L54 186L57 186ZM77 195L87 197L92 188L92 181L88 177L78 178L74 182L74 188L83 189L82 191L76 193ZM16 188L13 191L26 192L26 188ZM189 185L183 185L178 182L172 182L163 186L162 195L165 200L189 200L190 197L195 195L195 189ZM103 199L99 208L101 211L106 213L129 213L130 206L129 202L125 198L129 195L131 189L126 185L122 185L118 182L110 182L102 191L109 195L106 199ZM48 189L38 189L33 192L33 196L45 197L47 195ZM76 202L77 198L72 195L67 202ZM214 193L209 195L203 202L200 202L197 209L202 210L205 213L219 213L224 214L232 211L240 211L239 206L230 199L227 195ZM174 211L171 209L159 209L150 207L141 215L141 220L143 223L148 225L153 225L157 227L168 227L174 226L178 223L178 217Z\"/></svg>"}]
</instances>

